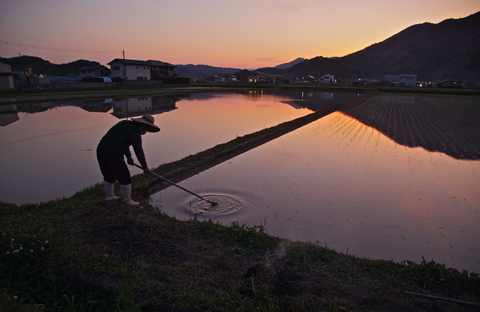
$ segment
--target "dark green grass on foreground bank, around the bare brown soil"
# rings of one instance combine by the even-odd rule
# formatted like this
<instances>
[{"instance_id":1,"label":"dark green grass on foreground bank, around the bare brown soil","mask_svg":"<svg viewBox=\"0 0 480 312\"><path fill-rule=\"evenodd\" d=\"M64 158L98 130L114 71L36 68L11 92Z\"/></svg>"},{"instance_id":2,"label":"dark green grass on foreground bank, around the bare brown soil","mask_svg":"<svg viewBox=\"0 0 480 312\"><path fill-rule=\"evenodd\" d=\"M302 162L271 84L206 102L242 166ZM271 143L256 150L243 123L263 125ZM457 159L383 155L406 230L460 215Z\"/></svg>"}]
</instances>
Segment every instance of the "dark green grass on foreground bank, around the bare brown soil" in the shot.
<instances>
[{"instance_id":1,"label":"dark green grass on foreground bank, around the bare brown soil","mask_svg":"<svg viewBox=\"0 0 480 312\"><path fill-rule=\"evenodd\" d=\"M184 246L178 258L173 257L183 262L158 265L143 255L134 261L121 260L121 253L108 249L115 242L97 246L72 239L77 233L75 224L64 217L84 213L83 196L20 206L17 211L2 205L2 311L155 311L159 307L165 311L311 311L317 306L324 311L350 311L353 304L343 300L342 294L356 293L366 285L378 292L388 285L472 302L480 299L478 274L433 261L399 264L357 258L318 244L271 237L261 226L181 222L153 210L138 214L167 232L177 233L174 242ZM112 220L124 217L111 213ZM189 248L198 250L182 259L181 253ZM195 259L202 253L206 254L202 258L209 258L208 253L221 257L217 249L229 250L226 266L247 262L237 287L212 283L216 274L225 274L221 268L212 276L205 273L215 271L210 265L216 268L223 262ZM319 279L311 280L310 276ZM303 283L309 284L305 293Z\"/></svg>"}]
</instances>

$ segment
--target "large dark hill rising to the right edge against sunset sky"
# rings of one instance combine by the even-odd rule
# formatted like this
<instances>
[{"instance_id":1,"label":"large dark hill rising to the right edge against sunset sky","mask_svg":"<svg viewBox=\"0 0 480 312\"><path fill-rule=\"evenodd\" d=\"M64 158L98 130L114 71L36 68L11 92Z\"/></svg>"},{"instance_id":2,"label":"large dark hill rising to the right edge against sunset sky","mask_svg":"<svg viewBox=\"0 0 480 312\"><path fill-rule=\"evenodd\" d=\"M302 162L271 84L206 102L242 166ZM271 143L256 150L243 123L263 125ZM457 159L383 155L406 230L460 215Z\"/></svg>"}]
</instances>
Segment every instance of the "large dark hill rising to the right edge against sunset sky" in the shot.
<instances>
[{"instance_id":1,"label":"large dark hill rising to the right edge against sunset sky","mask_svg":"<svg viewBox=\"0 0 480 312\"><path fill-rule=\"evenodd\" d=\"M414 25L344 57L319 56L288 69L260 71L287 77L333 74L354 79L417 74L418 80L480 82L480 12L438 24Z\"/></svg>"}]
</instances>

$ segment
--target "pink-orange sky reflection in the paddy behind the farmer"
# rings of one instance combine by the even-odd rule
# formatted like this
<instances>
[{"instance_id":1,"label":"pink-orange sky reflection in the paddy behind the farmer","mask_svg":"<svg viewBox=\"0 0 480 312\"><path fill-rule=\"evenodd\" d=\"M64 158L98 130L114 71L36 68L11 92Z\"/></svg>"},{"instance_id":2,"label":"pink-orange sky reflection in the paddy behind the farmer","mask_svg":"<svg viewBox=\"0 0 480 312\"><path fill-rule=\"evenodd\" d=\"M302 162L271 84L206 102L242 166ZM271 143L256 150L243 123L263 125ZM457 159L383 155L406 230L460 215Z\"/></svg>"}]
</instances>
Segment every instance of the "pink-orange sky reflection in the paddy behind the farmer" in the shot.
<instances>
[{"instance_id":1,"label":"pink-orange sky reflection in the paddy behind the farmer","mask_svg":"<svg viewBox=\"0 0 480 312\"><path fill-rule=\"evenodd\" d=\"M282 103L286 99L290 97L249 93L194 94L180 100L177 109L154 115L162 131L143 137L148 164L158 167L311 112ZM100 105L101 112L93 113L48 102L31 106L32 111L53 108L18 112L8 120L12 123L0 127L0 201L46 201L101 182L95 149L119 121L107 113L108 106L103 110L105 105ZM140 172L134 167L130 170Z\"/></svg>"}]
</instances>

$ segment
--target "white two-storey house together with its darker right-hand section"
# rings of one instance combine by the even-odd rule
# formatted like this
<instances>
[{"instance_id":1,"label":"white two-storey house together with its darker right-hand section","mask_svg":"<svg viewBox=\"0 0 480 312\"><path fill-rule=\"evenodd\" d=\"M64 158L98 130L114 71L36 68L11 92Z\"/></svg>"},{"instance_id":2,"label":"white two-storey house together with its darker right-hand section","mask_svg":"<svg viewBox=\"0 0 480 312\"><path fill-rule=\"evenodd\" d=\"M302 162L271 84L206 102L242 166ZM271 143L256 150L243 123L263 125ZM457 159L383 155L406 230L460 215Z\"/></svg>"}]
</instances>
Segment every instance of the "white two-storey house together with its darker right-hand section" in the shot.
<instances>
[{"instance_id":1,"label":"white two-storey house together with its darker right-hand section","mask_svg":"<svg viewBox=\"0 0 480 312\"><path fill-rule=\"evenodd\" d=\"M175 77L175 66L161 61L114 59L108 65L112 78L123 80L161 80Z\"/></svg>"}]
</instances>

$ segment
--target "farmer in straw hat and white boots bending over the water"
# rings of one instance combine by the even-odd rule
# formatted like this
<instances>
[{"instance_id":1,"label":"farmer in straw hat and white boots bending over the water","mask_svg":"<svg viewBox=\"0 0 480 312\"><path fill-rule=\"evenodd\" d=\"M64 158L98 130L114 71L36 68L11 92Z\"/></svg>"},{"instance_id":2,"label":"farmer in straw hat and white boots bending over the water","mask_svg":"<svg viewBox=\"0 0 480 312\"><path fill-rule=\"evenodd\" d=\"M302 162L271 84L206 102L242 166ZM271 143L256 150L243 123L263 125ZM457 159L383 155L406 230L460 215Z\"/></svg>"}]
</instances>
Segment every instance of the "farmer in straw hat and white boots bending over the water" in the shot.
<instances>
[{"instance_id":1,"label":"farmer in straw hat and white boots bending over the water","mask_svg":"<svg viewBox=\"0 0 480 312\"><path fill-rule=\"evenodd\" d=\"M118 180L122 201L132 206L138 205L138 202L133 201L131 198L132 180L124 156L127 157L129 165L134 164L132 154L130 153L130 145L133 146L143 172L150 172L145 160L145 154L143 153L141 136L147 132L160 131L160 128L153 122L154 119L151 115L120 121L108 130L100 140L97 146L97 159L103 174L105 199L107 201L118 198L115 196L113 187L114 182Z\"/></svg>"}]
</instances>

